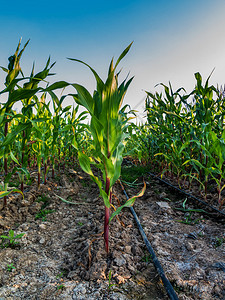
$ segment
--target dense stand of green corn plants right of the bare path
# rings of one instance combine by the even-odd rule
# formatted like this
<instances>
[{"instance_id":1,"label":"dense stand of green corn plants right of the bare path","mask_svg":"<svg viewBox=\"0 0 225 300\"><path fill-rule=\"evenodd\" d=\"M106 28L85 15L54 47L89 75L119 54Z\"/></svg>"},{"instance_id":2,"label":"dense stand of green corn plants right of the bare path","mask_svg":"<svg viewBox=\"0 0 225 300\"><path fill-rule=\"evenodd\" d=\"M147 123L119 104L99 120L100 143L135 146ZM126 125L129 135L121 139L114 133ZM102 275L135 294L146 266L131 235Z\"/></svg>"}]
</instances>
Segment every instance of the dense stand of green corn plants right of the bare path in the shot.
<instances>
[{"instance_id":1,"label":"dense stand of green corn plants right of the bare path","mask_svg":"<svg viewBox=\"0 0 225 300\"><path fill-rule=\"evenodd\" d=\"M188 179L189 187L193 180L197 182L204 190L205 200L208 182L213 180L221 207L224 90L210 86L210 76L203 83L200 73L196 73L196 86L190 94L182 88L173 92L171 84L162 85L164 93L147 92L147 122L154 141L150 159L153 161L153 155L161 175L171 174L173 179L175 175L178 184L181 178L185 178L182 184Z\"/></svg>"}]
</instances>

